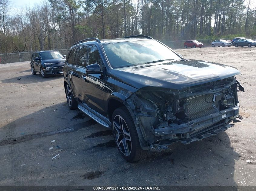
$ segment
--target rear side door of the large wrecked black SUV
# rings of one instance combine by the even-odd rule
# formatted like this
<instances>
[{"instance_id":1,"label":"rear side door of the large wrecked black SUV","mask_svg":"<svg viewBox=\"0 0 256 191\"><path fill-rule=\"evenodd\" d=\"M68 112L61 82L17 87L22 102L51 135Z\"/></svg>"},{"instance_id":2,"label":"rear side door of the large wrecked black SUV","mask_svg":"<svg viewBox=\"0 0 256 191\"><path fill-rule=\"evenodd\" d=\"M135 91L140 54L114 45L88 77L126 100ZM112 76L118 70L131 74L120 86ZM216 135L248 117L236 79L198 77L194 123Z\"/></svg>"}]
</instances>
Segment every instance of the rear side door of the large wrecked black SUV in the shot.
<instances>
[{"instance_id":1,"label":"rear side door of the large wrecked black SUV","mask_svg":"<svg viewBox=\"0 0 256 191\"><path fill-rule=\"evenodd\" d=\"M73 91L74 96L79 101L82 100L82 72L85 70L84 67L78 65L78 53L79 48L71 50L69 56L68 56L68 79L71 84L71 89ZM86 52L85 52L86 53Z\"/></svg>"}]
</instances>

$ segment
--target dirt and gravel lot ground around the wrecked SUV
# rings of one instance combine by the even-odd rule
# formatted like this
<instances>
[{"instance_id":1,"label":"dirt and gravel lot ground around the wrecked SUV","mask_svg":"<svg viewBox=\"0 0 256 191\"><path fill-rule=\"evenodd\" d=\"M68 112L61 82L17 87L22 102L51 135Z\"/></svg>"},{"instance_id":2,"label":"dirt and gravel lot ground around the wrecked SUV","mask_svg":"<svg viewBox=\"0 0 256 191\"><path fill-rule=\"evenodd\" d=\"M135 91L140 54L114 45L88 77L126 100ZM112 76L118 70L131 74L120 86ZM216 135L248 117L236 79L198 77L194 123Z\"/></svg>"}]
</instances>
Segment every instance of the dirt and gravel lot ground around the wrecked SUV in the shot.
<instances>
[{"instance_id":1,"label":"dirt and gravel lot ground around the wrecked SUV","mask_svg":"<svg viewBox=\"0 0 256 191\"><path fill-rule=\"evenodd\" d=\"M0 185L255 186L256 47L175 51L184 58L241 71L237 76L245 88L239 92L241 122L214 137L189 145L175 143L170 151L128 163L109 129L79 110L69 110L62 75L43 79L31 74L29 62L3 64Z\"/></svg>"}]
</instances>

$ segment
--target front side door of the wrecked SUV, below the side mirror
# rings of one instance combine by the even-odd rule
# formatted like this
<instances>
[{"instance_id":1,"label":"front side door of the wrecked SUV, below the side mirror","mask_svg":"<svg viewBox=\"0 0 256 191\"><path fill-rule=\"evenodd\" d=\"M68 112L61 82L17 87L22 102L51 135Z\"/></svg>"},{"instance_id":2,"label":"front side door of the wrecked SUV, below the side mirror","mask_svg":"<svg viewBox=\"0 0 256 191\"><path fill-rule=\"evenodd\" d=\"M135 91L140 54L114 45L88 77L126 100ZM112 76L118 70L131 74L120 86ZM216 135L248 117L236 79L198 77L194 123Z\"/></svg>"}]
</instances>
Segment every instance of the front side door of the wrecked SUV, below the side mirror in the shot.
<instances>
[{"instance_id":1,"label":"front side door of the wrecked SUV, below the side mirror","mask_svg":"<svg viewBox=\"0 0 256 191\"><path fill-rule=\"evenodd\" d=\"M102 60L96 46L88 46L87 64L99 64L103 70ZM91 109L106 116L103 102L103 74L82 74L82 84L84 90L83 102Z\"/></svg>"}]
</instances>

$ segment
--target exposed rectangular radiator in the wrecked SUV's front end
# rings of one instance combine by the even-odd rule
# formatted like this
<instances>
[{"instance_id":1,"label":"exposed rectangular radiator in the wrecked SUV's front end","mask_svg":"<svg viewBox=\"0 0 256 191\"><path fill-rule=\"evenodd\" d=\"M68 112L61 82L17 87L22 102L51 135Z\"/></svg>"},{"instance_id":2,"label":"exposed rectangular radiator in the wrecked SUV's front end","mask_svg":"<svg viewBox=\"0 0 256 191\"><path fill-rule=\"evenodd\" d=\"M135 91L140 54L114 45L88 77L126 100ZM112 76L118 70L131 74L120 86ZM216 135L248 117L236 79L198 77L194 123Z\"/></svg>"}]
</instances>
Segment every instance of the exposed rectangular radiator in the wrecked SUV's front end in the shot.
<instances>
[{"instance_id":1,"label":"exposed rectangular radiator in the wrecked SUV's front end","mask_svg":"<svg viewBox=\"0 0 256 191\"><path fill-rule=\"evenodd\" d=\"M217 112L212 106L213 94L206 94L187 98L188 116L191 120ZM214 105L219 109L218 101Z\"/></svg>"}]
</instances>

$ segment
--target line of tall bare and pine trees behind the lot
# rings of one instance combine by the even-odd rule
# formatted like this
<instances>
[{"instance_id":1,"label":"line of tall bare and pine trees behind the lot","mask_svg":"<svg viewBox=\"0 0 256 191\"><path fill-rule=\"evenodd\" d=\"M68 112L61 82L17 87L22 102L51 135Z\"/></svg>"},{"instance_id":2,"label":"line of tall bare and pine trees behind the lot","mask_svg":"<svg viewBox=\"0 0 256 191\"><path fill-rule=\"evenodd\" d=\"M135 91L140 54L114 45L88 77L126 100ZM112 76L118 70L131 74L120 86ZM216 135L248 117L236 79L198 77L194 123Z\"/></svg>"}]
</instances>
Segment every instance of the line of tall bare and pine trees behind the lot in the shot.
<instances>
[{"instance_id":1,"label":"line of tall bare and pine trees behind the lot","mask_svg":"<svg viewBox=\"0 0 256 191\"><path fill-rule=\"evenodd\" d=\"M255 36L253 0L44 0L13 10L0 0L0 53L66 49L89 37L161 41Z\"/></svg>"}]
</instances>

